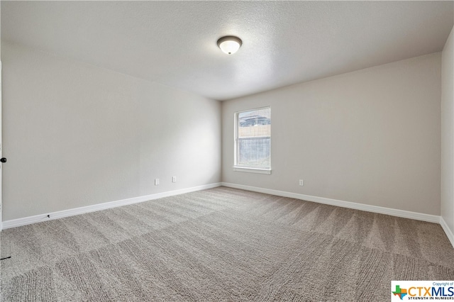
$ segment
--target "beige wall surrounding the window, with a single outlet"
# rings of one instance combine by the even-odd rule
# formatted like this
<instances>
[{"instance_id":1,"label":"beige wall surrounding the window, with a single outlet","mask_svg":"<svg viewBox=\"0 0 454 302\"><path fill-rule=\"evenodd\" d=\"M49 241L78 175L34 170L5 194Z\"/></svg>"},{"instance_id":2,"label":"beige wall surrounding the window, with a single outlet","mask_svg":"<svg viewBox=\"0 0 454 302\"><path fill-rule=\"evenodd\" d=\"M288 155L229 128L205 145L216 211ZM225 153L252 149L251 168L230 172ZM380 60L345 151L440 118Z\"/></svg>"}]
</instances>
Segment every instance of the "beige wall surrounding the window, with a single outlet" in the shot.
<instances>
[{"instance_id":1,"label":"beige wall surrounding the window, with a single outlet","mask_svg":"<svg viewBox=\"0 0 454 302\"><path fill-rule=\"evenodd\" d=\"M222 179L440 215L440 100L438 52L224 101ZM233 172L234 113L263 106L272 174Z\"/></svg>"}]
</instances>

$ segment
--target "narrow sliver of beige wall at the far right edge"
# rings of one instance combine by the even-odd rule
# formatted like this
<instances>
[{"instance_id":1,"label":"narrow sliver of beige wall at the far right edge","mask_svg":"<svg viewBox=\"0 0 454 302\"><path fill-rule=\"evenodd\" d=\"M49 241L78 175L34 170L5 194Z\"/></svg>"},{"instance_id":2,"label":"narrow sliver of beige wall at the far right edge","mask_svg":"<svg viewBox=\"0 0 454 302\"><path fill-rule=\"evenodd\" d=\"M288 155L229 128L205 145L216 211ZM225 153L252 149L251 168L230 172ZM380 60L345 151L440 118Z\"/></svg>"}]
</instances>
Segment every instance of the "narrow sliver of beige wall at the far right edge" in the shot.
<instances>
[{"instance_id":1,"label":"narrow sliver of beige wall at the far right edge","mask_svg":"<svg viewBox=\"0 0 454 302\"><path fill-rule=\"evenodd\" d=\"M441 216L454 233L454 28L441 56Z\"/></svg>"}]
</instances>

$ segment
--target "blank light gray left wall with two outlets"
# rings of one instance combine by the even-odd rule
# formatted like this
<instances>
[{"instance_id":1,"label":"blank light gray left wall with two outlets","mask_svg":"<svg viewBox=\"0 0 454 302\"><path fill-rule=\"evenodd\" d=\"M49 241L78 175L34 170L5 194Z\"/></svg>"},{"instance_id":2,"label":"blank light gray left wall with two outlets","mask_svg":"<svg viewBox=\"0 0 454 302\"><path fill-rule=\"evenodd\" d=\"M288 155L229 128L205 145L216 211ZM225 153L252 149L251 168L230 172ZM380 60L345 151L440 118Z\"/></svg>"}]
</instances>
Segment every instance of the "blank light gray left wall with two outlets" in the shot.
<instances>
[{"instance_id":1,"label":"blank light gray left wall with two outlets","mask_svg":"<svg viewBox=\"0 0 454 302\"><path fill-rule=\"evenodd\" d=\"M218 101L1 47L4 221L221 180Z\"/></svg>"}]
</instances>

